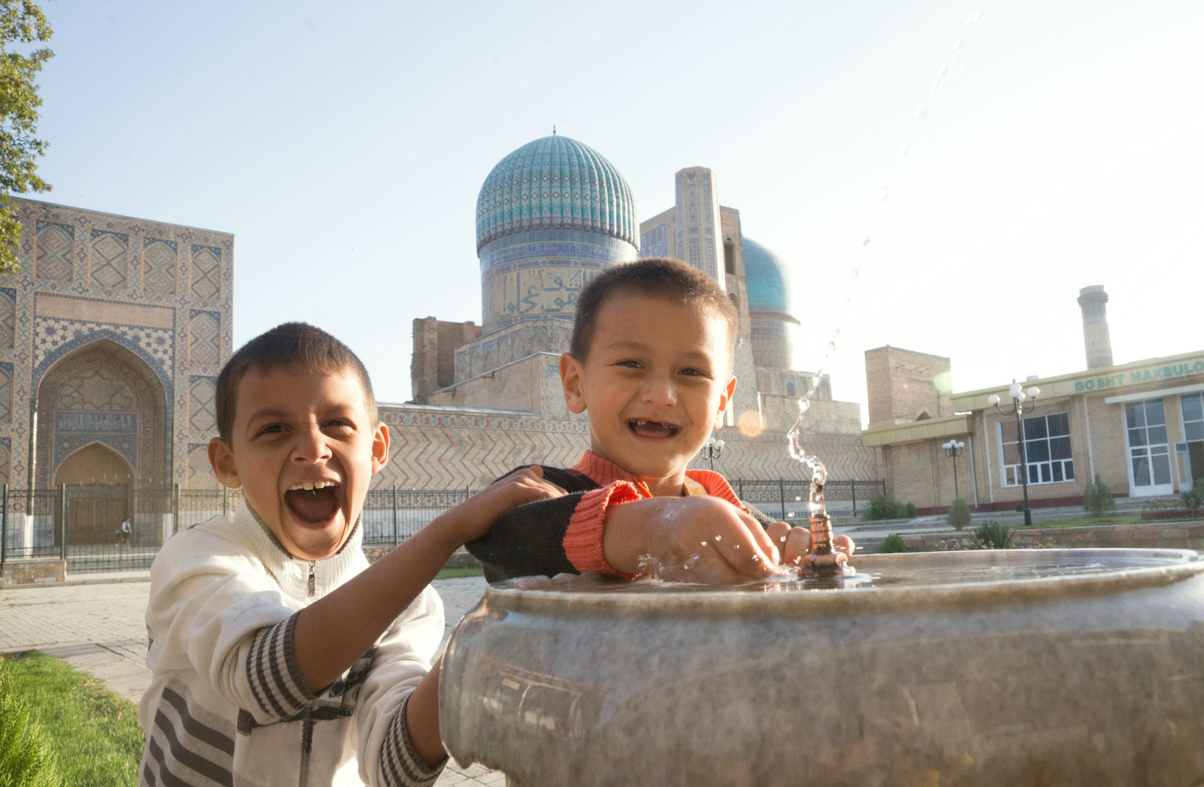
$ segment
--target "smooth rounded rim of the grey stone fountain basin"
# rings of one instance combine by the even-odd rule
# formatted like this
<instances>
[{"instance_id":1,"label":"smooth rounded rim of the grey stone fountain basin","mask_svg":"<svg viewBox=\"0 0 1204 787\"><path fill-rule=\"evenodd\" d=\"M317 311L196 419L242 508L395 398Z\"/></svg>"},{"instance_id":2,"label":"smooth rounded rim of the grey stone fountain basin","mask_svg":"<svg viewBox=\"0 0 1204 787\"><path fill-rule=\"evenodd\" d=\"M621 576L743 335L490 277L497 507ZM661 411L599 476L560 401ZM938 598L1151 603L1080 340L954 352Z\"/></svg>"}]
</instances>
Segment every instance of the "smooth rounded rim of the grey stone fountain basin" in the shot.
<instances>
[{"instance_id":1,"label":"smooth rounded rim of the grey stone fountain basin","mask_svg":"<svg viewBox=\"0 0 1204 787\"><path fill-rule=\"evenodd\" d=\"M913 552L899 555L866 555L857 563L931 562L933 556L993 556L1033 555L1033 550L984 550L966 552ZM796 592L750 592L714 586L697 592L566 592L561 590L524 590L514 587L520 580L549 578L515 578L494 582L485 588L484 600L495 610L520 614L608 614L621 617L727 617L733 615L815 616L858 614L891 609L925 609L996 606L1017 603L1066 600L1122 593L1147 587L1173 585L1204 573L1204 555L1184 549L1052 549L1041 555L1074 554L1079 557L1163 558L1164 566L1105 570L1092 574L1070 574L1037 579L1008 579L991 582L951 582L948 585L908 585L857 587L848 590L807 590ZM961 560L961 558L954 558ZM987 564L998 563L997 560ZM872 566L870 566L872 568Z\"/></svg>"}]
</instances>

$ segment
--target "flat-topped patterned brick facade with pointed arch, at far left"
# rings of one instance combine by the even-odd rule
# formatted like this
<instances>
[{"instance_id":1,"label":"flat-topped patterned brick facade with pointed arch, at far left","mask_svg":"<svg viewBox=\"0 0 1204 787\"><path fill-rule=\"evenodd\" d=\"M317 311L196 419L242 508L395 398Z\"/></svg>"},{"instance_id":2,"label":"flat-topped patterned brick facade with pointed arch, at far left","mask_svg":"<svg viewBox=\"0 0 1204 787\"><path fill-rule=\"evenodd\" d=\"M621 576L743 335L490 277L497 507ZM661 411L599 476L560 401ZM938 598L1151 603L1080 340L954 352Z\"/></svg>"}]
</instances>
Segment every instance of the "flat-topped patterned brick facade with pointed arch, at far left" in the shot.
<instances>
[{"instance_id":1,"label":"flat-topped patterned brick facade with pointed arch, at far left","mask_svg":"<svg viewBox=\"0 0 1204 787\"><path fill-rule=\"evenodd\" d=\"M217 373L232 345L234 236L13 197L0 277L0 480L216 485Z\"/></svg>"}]
</instances>

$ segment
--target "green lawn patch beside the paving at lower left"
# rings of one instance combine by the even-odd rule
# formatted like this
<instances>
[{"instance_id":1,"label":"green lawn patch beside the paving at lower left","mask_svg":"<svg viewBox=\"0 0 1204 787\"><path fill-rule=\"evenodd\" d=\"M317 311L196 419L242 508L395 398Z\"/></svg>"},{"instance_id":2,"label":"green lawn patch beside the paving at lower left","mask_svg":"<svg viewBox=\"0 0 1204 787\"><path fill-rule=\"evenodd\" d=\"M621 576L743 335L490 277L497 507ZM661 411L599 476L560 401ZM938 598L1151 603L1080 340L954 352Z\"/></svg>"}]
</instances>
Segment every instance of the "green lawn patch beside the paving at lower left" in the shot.
<instances>
[{"instance_id":1,"label":"green lawn patch beside the paving at lower left","mask_svg":"<svg viewBox=\"0 0 1204 787\"><path fill-rule=\"evenodd\" d=\"M0 673L28 699L34 721L46 733L61 775L57 783L137 783L144 741L137 705L104 688L95 677L37 651L0 659Z\"/></svg>"}]
</instances>

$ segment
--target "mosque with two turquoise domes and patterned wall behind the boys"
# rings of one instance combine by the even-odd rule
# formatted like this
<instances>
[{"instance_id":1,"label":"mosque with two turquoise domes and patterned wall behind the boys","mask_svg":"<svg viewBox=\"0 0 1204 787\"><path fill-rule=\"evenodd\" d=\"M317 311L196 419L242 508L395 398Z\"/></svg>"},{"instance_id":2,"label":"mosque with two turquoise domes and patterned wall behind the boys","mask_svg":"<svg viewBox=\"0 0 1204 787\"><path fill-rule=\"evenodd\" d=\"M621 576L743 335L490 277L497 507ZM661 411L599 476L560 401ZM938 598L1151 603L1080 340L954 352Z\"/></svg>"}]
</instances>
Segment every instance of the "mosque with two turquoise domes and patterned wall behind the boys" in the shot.
<instances>
[{"instance_id":1,"label":"mosque with two turquoise domes and patterned wall behind the boys","mask_svg":"<svg viewBox=\"0 0 1204 787\"><path fill-rule=\"evenodd\" d=\"M689 167L674 178L674 206L641 223L618 168L576 140L536 140L494 167L477 201L482 321L414 320L414 400L380 404L394 458L378 484L476 487L518 464L574 463L589 446L589 424L565 404L559 356L577 292L598 271L648 256L714 277L739 312L739 383L715 469L803 478L785 448L811 380L797 361L790 266L744 237L713 171ZM832 478L880 478L877 449L861 440L860 406L834 401L826 377L803 431Z\"/></svg>"}]
</instances>

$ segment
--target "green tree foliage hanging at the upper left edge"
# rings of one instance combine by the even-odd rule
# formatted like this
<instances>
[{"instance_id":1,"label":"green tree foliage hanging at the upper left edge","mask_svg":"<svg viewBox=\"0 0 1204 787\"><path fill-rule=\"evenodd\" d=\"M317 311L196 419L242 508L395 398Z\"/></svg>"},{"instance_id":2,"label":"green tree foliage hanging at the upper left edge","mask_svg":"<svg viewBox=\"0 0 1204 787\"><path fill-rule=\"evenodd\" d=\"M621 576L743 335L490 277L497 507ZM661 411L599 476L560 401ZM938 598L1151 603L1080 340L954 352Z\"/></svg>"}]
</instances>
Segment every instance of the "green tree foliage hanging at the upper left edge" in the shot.
<instances>
[{"instance_id":1,"label":"green tree foliage hanging at the upper left edge","mask_svg":"<svg viewBox=\"0 0 1204 787\"><path fill-rule=\"evenodd\" d=\"M17 247L22 227L10 195L51 189L37 176L37 158L46 153L46 142L36 136L42 99L35 79L54 53L46 47L13 47L45 43L52 32L33 0L0 0L0 274L20 271Z\"/></svg>"}]
</instances>

